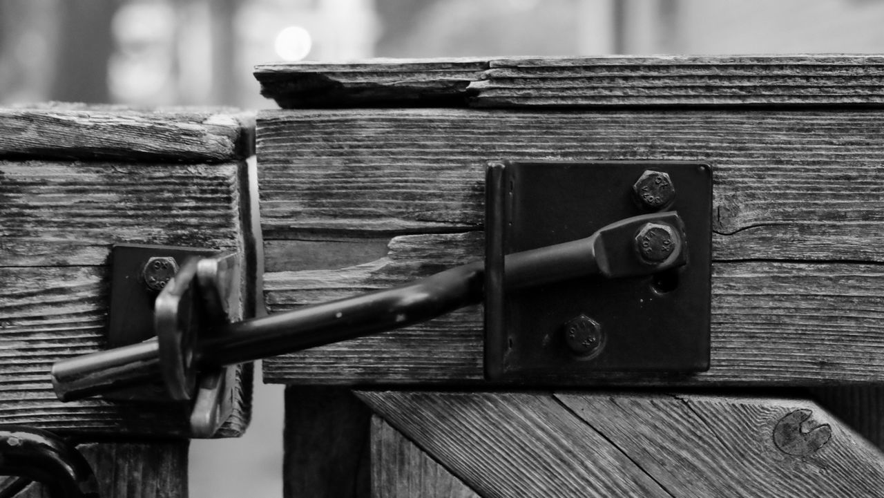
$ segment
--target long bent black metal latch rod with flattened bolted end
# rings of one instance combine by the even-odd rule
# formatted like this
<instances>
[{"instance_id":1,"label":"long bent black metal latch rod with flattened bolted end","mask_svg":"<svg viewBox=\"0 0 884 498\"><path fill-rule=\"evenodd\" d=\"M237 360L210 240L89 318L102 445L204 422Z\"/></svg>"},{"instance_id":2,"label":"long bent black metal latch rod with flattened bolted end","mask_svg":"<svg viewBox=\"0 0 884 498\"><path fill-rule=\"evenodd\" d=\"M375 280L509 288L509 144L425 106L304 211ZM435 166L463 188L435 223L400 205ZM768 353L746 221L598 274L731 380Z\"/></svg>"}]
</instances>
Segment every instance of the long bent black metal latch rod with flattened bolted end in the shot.
<instances>
[{"instance_id":1,"label":"long bent black metal latch rod with flattened bolted end","mask_svg":"<svg viewBox=\"0 0 884 498\"><path fill-rule=\"evenodd\" d=\"M682 219L674 211L626 218L589 237L507 255L504 287L516 290L591 275L650 275L686 263ZM643 235L644 234L644 235ZM62 401L164 379L175 399L191 399L196 372L345 341L413 325L484 296L484 263L465 264L401 287L251 318L197 337L194 315L181 308L198 262L192 260L156 299L158 340L58 362L52 368ZM217 326L216 326L217 327Z\"/></svg>"}]
</instances>

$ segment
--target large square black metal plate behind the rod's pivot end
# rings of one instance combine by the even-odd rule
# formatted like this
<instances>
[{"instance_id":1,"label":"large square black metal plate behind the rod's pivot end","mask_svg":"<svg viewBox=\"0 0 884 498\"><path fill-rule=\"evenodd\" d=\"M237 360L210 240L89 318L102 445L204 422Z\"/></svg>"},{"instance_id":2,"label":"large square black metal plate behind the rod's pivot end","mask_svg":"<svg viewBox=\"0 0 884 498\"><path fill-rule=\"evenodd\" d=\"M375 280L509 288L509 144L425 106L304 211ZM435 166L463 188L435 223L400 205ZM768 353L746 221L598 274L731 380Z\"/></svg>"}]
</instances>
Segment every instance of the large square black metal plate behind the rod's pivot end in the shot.
<instances>
[{"instance_id":1,"label":"large square black metal plate behind the rod's pivot end","mask_svg":"<svg viewBox=\"0 0 884 498\"><path fill-rule=\"evenodd\" d=\"M494 168L497 167L497 172ZM626 279L583 278L506 295L486 289L485 370L489 379L590 382L598 372L698 372L709 368L712 170L699 163L521 162L489 169L486 242L503 254L593 234L649 211L633 194L645 170L667 172L676 192L666 211L685 224L688 264ZM502 258L489 249L486 268ZM506 269L502 269L506 272ZM502 278L499 279L502 281ZM496 310L496 311L495 311ZM603 347L575 355L565 328L598 323Z\"/></svg>"}]
</instances>

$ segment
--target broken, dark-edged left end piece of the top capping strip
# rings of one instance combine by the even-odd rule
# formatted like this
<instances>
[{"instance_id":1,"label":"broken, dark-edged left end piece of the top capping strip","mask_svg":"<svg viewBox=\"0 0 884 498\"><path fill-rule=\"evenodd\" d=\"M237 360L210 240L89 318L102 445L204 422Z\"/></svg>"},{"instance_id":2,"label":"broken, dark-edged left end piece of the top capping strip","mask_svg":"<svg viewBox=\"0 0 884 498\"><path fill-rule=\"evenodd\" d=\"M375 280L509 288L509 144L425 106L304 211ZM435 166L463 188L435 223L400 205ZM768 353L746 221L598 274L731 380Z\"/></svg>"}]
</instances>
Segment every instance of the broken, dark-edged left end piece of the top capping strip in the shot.
<instances>
[{"instance_id":1,"label":"broken, dark-edged left end piece of the top capping strip","mask_svg":"<svg viewBox=\"0 0 884 498\"><path fill-rule=\"evenodd\" d=\"M488 67L482 58L373 59L255 66L261 95L280 107L462 105L469 83Z\"/></svg>"}]
</instances>

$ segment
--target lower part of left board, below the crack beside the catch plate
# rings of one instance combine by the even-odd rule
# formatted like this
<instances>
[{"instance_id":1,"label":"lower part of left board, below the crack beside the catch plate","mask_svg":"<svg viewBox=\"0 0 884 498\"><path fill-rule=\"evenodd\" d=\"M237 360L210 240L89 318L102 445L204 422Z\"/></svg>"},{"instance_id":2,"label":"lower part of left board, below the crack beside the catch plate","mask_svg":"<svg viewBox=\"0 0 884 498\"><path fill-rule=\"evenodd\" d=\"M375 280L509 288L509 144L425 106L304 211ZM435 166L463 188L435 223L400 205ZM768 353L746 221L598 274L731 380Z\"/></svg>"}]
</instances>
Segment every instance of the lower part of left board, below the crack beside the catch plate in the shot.
<instances>
[{"instance_id":1,"label":"lower part of left board, below the crack beside the catch plate","mask_svg":"<svg viewBox=\"0 0 884 498\"><path fill-rule=\"evenodd\" d=\"M53 393L54 362L103 349L108 280L103 266L0 267L0 423L66 433L187 431L187 408L178 404L63 403ZM248 426L251 372L240 371L232 416L218 435Z\"/></svg>"}]
</instances>

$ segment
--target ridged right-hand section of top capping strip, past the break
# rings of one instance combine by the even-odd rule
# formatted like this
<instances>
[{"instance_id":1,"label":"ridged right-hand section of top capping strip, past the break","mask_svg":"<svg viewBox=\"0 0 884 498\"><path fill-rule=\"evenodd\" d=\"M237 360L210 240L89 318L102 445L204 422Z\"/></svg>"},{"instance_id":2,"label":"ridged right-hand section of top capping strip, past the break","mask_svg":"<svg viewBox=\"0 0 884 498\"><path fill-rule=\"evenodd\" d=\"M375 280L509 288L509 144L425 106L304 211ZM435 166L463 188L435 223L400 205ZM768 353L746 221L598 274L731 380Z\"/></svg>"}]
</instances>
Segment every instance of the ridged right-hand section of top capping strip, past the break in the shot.
<instances>
[{"instance_id":1,"label":"ridged right-hand section of top capping strip, past the break","mask_svg":"<svg viewBox=\"0 0 884 498\"><path fill-rule=\"evenodd\" d=\"M492 60L476 107L884 103L884 57L581 57Z\"/></svg>"}]
</instances>

